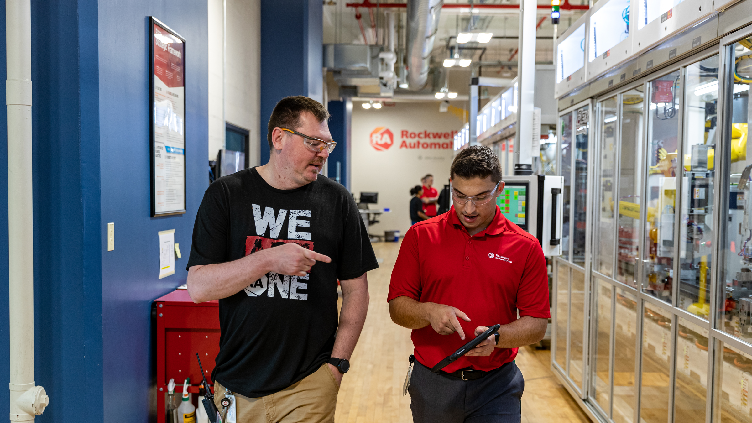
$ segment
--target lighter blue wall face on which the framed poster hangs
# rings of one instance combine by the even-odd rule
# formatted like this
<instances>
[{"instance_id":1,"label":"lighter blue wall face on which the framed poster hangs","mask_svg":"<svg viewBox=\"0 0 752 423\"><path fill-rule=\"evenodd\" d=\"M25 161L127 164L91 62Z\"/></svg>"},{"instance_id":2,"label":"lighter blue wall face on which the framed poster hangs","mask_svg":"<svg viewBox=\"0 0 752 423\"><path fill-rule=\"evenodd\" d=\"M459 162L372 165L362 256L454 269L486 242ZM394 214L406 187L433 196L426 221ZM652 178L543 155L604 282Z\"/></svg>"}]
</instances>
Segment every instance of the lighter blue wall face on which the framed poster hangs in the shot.
<instances>
[{"instance_id":1,"label":"lighter blue wall face on which the framed poster hangs","mask_svg":"<svg viewBox=\"0 0 752 423\"><path fill-rule=\"evenodd\" d=\"M150 218L148 16L186 38L188 212L162 218ZM185 283L193 222L208 187L207 31L206 0L99 3L105 421L147 421L152 401L156 410L150 302ZM108 222L115 223L114 251L104 248ZM159 280L157 232L169 229L183 258L174 275Z\"/></svg>"}]
</instances>

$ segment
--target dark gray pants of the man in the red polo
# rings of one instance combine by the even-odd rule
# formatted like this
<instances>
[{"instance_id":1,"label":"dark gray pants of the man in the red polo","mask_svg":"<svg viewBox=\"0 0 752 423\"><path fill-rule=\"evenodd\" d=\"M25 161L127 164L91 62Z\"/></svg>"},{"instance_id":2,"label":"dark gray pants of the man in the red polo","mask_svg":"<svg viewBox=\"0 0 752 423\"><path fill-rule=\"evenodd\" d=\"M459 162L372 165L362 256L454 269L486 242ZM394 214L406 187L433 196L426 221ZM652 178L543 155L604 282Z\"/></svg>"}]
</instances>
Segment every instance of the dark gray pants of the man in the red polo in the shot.
<instances>
[{"instance_id":1,"label":"dark gray pants of the man in the red polo","mask_svg":"<svg viewBox=\"0 0 752 423\"><path fill-rule=\"evenodd\" d=\"M464 381L415 362L410 381L414 423L520 423L525 379L512 363Z\"/></svg>"}]
</instances>

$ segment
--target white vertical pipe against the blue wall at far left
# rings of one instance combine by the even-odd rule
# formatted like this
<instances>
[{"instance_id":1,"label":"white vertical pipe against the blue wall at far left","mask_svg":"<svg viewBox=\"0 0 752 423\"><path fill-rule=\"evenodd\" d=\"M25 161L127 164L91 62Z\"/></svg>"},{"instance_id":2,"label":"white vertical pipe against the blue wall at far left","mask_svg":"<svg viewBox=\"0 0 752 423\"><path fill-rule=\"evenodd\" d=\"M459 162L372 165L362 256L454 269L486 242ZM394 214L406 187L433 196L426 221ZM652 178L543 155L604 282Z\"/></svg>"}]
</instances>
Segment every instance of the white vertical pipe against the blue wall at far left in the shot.
<instances>
[{"instance_id":1,"label":"white vertical pipe against the blue wall at far left","mask_svg":"<svg viewBox=\"0 0 752 423\"><path fill-rule=\"evenodd\" d=\"M11 421L33 421L48 400L34 385L31 28L31 0L6 0Z\"/></svg>"}]
</instances>

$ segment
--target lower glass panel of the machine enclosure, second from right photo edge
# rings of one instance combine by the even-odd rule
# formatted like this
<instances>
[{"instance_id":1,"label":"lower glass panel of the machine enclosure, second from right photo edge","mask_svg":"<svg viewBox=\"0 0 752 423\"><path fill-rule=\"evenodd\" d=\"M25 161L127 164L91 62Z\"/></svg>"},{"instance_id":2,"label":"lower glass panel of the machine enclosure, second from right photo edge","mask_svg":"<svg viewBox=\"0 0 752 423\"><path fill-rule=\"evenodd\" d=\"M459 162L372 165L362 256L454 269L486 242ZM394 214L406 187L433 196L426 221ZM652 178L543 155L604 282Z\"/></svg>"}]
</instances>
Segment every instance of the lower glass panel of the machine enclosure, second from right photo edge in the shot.
<instances>
[{"instance_id":1,"label":"lower glass panel of the machine enclosure, second from right photo edge","mask_svg":"<svg viewBox=\"0 0 752 423\"><path fill-rule=\"evenodd\" d=\"M678 318L674 421L705 423L708 387L708 329Z\"/></svg>"}]
</instances>

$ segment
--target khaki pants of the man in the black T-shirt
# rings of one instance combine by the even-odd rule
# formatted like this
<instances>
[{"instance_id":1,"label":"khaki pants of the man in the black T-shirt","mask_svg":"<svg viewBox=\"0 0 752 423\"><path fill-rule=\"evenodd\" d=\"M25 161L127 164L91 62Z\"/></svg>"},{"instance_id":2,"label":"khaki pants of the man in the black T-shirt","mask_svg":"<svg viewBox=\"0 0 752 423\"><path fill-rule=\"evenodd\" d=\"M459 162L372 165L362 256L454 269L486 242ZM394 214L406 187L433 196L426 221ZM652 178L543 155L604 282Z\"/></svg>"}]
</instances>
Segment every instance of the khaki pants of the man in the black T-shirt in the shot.
<instances>
[{"instance_id":1,"label":"khaki pants of the man in the black T-shirt","mask_svg":"<svg viewBox=\"0 0 752 423\"><path fill-rule=\"evenodd\" d=\"M324 363L305 379L274 394L259 398L235 394L238 423L333 422L338 391L332 370ZM224 397L225 388L214 381L214 403L220 413Z\"/></svg>"}]
</instances>

